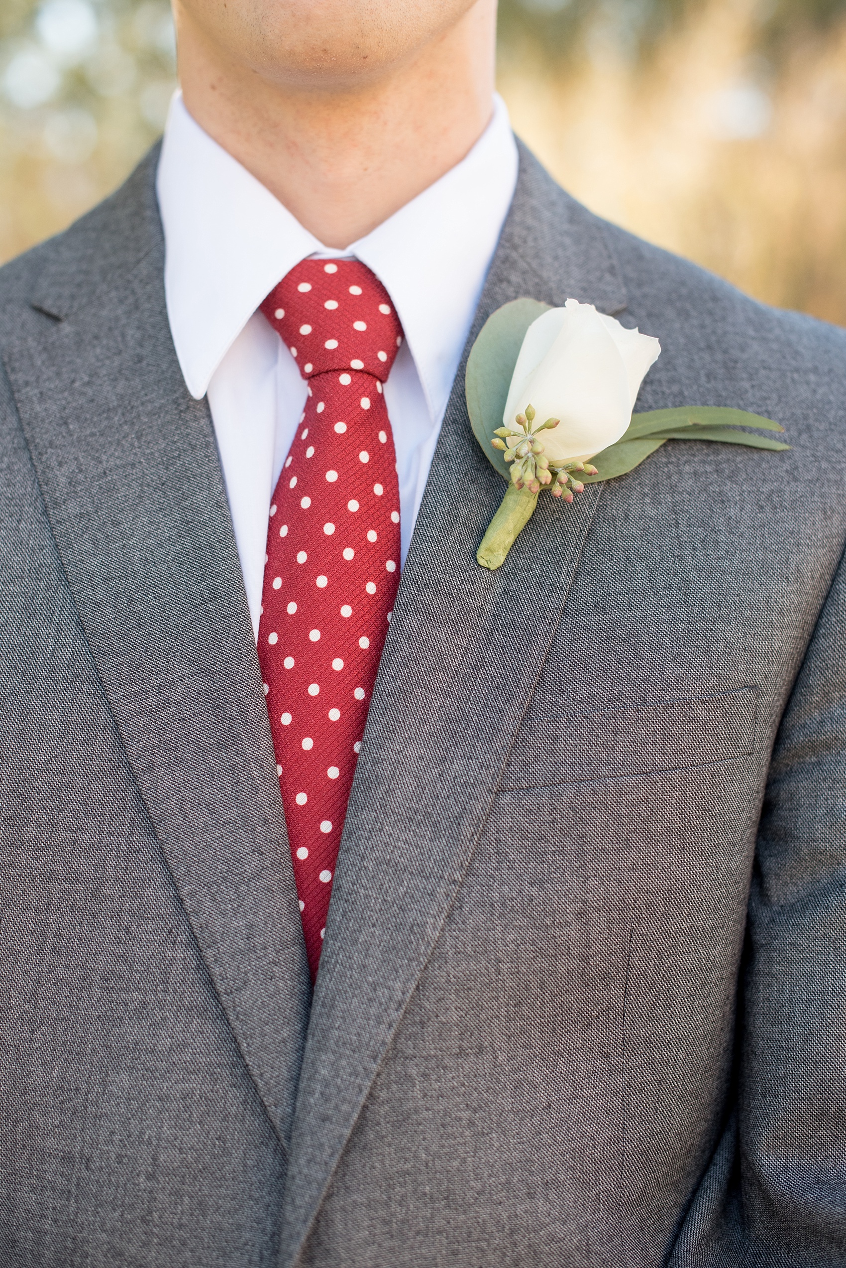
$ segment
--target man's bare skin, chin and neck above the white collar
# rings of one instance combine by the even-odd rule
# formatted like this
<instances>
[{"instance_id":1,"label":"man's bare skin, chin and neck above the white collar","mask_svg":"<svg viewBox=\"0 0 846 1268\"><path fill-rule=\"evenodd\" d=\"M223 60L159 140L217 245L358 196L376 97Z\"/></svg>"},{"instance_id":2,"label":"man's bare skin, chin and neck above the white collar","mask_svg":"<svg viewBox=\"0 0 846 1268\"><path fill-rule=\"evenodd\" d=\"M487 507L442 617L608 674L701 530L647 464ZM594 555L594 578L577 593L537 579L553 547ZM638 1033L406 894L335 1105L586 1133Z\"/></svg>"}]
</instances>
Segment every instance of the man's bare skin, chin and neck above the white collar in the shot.
<instances>
[{"instance_id":1,"label":"man's bare skin, chin and neck above the white collar","mask_svg":"<svg viewBox=\"0 0 846 1268\"><path fill-rule=\"evenodd\" d=\"M344 250L491 115L496 0L175 0L189 112Z\"/></svg>"}]
</instances>

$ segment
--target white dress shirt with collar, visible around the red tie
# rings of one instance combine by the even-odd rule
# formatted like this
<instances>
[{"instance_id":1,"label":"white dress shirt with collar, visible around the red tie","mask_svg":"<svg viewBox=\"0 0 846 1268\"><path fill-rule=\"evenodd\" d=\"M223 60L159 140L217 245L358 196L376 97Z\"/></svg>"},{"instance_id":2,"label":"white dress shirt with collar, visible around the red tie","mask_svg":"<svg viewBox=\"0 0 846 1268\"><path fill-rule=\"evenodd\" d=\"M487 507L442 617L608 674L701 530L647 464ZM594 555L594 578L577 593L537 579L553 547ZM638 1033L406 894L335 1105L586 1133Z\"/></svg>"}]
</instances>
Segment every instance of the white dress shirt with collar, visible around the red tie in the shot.
<instances>
[{"instance_id":1,"label":"white dress shirt with collar, visible around the red tie","mask_svg":"<svg viewBox=\"0 0 846 1268\"><path fill-rule=\"evenodd\" d=\"M174 98L156 184L167 316L189 392L209 397L256 637L270 498L306 397L260 303L314 255L355 256L390 294L405 332L385 384L404 562L515 183L517 146L496 96L460 164L347 251L329 251Z\"/></svg>"}]
</instances>

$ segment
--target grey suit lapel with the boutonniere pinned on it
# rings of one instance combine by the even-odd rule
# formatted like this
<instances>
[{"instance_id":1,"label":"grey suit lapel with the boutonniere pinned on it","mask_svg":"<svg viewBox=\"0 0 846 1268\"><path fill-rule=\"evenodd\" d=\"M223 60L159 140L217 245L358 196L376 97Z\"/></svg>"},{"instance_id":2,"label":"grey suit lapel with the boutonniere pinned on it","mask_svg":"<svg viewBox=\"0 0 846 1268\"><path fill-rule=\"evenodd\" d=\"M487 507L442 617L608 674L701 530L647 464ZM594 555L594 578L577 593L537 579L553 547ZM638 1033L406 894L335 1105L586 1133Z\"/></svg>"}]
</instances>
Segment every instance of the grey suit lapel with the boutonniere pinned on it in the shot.
<instances>
[{"instance_id":1,"label":"grey suit lapel with the boutonniere pinned on it","mask_svg":"<svg viewBox=\"0 0 846 1268\"><path fill-rule=\"evenodd\" d=\"M467 347L519 295L619 312L597 221L526 152ZM466 354L465 354L466 359ZM484 827L561 621L600 487L545 498L505 564L475 562L504 484L472 437L464 361L443 421L370 708L336 870L285 1193L303 1248Z\"/></svg>"}]
</instances>

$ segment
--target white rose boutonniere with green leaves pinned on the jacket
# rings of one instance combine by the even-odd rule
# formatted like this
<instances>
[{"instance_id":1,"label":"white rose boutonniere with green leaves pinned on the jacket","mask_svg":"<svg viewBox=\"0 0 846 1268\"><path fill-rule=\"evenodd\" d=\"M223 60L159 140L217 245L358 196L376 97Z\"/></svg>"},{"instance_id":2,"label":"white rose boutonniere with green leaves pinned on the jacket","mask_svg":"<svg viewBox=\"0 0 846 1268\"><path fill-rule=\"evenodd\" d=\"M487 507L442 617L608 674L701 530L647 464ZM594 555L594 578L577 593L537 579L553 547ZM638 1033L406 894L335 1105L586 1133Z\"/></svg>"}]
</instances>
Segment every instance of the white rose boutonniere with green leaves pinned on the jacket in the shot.
<instances>
[{"instance_id":1,"label":"white rose boutonniere with green leaves pinned on the jacket","mask_svg":"<svg viewBox=\"0 0 846 1268\"><path fill-rule=\"evenodd\" d=\"M660 354L657 339L575 299L564 308L514 299L488 318L467 360L467 411L508 489L476 554L483 568L499 568L542 493L572 502L585 484L624 476L667 440L790 448L742 430L784 431L742 410L632 413Z\"/></svg>"}]
</instances>

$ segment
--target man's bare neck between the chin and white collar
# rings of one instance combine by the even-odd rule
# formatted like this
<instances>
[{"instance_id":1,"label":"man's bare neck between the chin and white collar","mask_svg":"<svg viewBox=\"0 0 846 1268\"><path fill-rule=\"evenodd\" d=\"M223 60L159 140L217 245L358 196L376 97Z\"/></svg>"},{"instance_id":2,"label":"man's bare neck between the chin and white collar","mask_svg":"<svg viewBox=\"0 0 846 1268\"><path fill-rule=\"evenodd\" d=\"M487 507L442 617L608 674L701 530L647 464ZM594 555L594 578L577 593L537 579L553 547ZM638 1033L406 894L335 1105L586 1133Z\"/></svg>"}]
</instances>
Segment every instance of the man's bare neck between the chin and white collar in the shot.
<instances>
[{"instance_id":1,"label":"man's bare neck between the chin and white collar","mask_svg":"<svg viewBox=\"0 0 846 1268\"><path fill-rule=\"evenodd\" d=\"M490 6L474 6L413 60L355 89L272 82L187 29L182 95L200 127L305 228L344 250L460 162L484 132L494 18Z\"/></svg>"}]
</instances>

